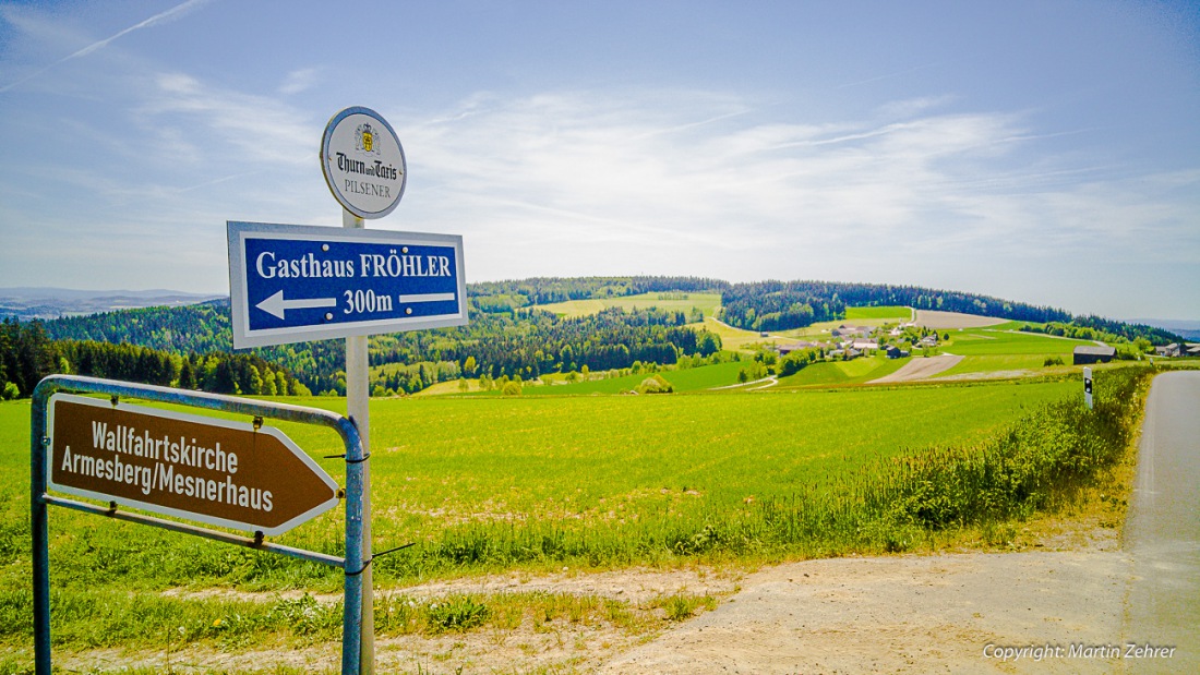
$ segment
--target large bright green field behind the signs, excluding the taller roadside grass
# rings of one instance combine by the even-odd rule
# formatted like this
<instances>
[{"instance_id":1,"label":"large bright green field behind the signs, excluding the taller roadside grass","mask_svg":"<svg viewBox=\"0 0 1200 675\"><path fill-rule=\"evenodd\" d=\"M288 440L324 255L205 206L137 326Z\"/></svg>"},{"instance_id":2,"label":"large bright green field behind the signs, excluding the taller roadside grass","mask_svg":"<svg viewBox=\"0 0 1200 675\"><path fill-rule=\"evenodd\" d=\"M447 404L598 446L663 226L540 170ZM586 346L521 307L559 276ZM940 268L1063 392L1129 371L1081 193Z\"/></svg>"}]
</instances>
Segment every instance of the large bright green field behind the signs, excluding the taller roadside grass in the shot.
<instances>
[{"instance_id":1,"label":"large bright green field behind the signs, excluding the taller roadside grass","mask_svg":"<svg viewBox=\"0 0 1200 675\"><path fill-rule=\"evenodd\" d=\"M829 484L911 448L982 439L1070 387L373 400L374 534L379 548L432 546L478 526L644 538L679 514L736 511L748 498ZM0 405L0 574L8 589L28 574L28 403ZM281 428L316 457L341 452L325 429ZM341 482L340 462L318 463ZM308 563L64 510L52 513L52 530L55 577L71 585L337 585L335 574ZM341 531L330 514L280 541L338 552ZM403 554L382 567L394 581L422 573Z\"/></svg>"}]
</instances>

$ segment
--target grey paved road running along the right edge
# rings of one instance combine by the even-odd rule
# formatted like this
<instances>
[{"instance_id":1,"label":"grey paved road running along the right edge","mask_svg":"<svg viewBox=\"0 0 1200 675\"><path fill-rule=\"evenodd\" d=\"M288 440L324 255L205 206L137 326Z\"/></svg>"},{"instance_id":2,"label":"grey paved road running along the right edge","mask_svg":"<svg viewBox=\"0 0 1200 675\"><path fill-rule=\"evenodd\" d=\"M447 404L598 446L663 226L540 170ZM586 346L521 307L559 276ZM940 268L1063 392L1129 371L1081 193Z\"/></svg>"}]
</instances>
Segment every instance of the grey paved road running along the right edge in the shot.
<instances>
[{"instance_id":1,"label":"grey paved road running along the right edge","mask_svg":"<svg viewBox=\"0 0 1200 675\"><path fill-rule=\"evenodd\" d=\"M1124 640L1175 645L1133 673L1200 673L1200 373L1164 373L1146 403L1126 525Z\"/></svg>"}]
</instances>

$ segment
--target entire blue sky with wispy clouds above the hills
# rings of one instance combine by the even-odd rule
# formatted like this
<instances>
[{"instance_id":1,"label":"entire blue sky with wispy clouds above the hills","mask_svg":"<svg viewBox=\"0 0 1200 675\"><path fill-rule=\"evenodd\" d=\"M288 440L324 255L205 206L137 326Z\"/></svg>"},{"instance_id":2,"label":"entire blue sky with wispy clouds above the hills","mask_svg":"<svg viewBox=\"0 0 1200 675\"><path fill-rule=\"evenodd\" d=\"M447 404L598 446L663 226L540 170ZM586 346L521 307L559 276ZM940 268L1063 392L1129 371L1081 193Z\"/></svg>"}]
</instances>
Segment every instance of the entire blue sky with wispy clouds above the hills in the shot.
<instances>
[{"instance_id":1,"label":"entire blue sky with wispy clouds above the hills","mask_svg":"<svg viewBox=\"0 0 1200 675\"><path fill-rule=\"evenodd\" d=\"M0 287L228 291L383 114L469 281L917 284L1200 319L1196 2L0 4Z\"/></svg>"}]
</instances>

